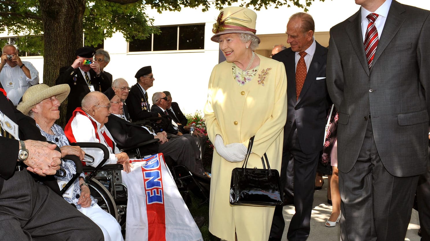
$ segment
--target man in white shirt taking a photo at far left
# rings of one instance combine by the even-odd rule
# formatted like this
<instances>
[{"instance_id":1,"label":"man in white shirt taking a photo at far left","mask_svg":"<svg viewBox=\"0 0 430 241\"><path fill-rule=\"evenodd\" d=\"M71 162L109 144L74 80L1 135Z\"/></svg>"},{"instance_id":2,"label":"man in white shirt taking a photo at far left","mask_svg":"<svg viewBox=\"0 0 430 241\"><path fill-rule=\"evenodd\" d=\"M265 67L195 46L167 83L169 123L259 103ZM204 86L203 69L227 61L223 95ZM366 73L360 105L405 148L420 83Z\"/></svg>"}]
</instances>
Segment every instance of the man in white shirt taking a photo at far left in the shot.
<instances>
[{"instance_id":1,"label":"man in white shirt taking a photo at far left","mask_svg":"<svg viewBox=\"0 0 430 241\"><path fill-rule=\"evenodd\" d=\"M39 84L39 72L18 57L18 49L11 44L3 47L0 63L0 81L7 96L17 106L28 87Z\"/></svg>"}]
</instances>

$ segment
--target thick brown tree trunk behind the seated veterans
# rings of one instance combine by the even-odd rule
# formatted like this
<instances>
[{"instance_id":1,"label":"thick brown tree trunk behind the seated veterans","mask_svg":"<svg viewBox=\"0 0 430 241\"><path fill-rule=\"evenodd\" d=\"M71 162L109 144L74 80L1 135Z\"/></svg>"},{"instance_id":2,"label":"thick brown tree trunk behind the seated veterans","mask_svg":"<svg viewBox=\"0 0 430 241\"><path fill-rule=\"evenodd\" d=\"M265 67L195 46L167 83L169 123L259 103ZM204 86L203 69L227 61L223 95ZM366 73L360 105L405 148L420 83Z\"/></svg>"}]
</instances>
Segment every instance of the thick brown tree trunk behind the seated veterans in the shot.
<instances>
[{"instance_id":1,"label":"thick brown tree trunk behind the seated veterans","mask_svg":"<svg viewBox=\"0 0 430 241\"><path fill-rule=\"evenodd\" d=\"M43 82L55 85L59 69L76 59L75 51L83 46L85 0L40 0L44 29ZM67 99L61 104L60 119L64 127Z\"/></svg>"}]
</instances>

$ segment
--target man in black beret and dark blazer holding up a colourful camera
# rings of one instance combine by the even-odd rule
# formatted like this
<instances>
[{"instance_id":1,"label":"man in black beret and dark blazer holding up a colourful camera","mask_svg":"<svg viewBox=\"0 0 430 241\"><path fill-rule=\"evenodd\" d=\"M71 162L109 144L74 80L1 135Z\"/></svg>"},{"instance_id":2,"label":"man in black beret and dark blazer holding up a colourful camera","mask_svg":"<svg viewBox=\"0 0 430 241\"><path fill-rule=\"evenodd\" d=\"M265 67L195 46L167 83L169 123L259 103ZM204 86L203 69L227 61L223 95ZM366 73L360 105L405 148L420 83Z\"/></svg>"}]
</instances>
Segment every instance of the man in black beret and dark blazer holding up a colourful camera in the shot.
<instances>
[{"instance_id":1,"label":"man in black beret and dark blazer holding up a colourful camera","mask_svg":"<svg viewBox=\"0 0 430 241\"><path fill-rule=\"evenodd\" d=\"M75 52L76 60L72 65L60 69L60 75L55 84L70 86L66 120L70 119L73 111L81 106L81 101L87 93L95 90L104 92L111 87L107 76L101 72L99 64L93 61L94 54L94 48L78 48Z\"/></svg>"}]
</instances>

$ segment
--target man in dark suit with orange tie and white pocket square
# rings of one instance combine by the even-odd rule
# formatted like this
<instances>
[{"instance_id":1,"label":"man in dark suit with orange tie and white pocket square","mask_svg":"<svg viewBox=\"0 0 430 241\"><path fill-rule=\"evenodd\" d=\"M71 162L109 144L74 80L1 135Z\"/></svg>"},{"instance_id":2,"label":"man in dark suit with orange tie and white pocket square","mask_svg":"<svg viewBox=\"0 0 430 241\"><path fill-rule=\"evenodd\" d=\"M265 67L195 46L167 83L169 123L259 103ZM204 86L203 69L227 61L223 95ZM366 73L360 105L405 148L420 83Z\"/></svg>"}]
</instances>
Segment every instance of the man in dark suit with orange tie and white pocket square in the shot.
<instances>
[{"instance_id":1,"label":"man in dark suit with orange tie and white pocket square","mask_svg":"<svg viewBox=\"0 0 430 241\"><path fill-rule=\"evenodd\" d=\"M287 184L287 166L294 160L295 214L291 219L287 238L306 240L310 232L313 191L330 105L326 87L327 48L313 39L315 24L304 12L292 15L287 24L291 48L273 55L285 65L288 88L287 121L284 127L284 146L281 182ZM280 240L285 221L282 206L275 208L269 240Z\"/></svg>"}]
</instances>

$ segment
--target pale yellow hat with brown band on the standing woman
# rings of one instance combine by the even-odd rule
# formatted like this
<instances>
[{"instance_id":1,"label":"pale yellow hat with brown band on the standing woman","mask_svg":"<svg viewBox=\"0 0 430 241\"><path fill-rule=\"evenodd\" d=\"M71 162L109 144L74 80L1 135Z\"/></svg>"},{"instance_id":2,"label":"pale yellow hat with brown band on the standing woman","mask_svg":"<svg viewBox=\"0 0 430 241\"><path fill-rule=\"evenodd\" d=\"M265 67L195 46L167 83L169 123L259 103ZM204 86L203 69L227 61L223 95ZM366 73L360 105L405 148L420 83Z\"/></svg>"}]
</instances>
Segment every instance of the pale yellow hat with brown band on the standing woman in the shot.
<instances>
[{"instance_id":1,"label":"pale yellow hat with brown band on the standing woman","mask_svg":"<svg viewBox=\"0 0 430 241\"><path fill-rule=\"evenodd\" d=\"M260 38L255 35L257 32L255 30L256 20L257 14L251 9L244 7L223 8L212 29L212 33L215 35L212 36L211 40L218 42L218 36L226 33L248 33L257 37L258 43L260 43Z\"/></svg>"}]
</instances>

